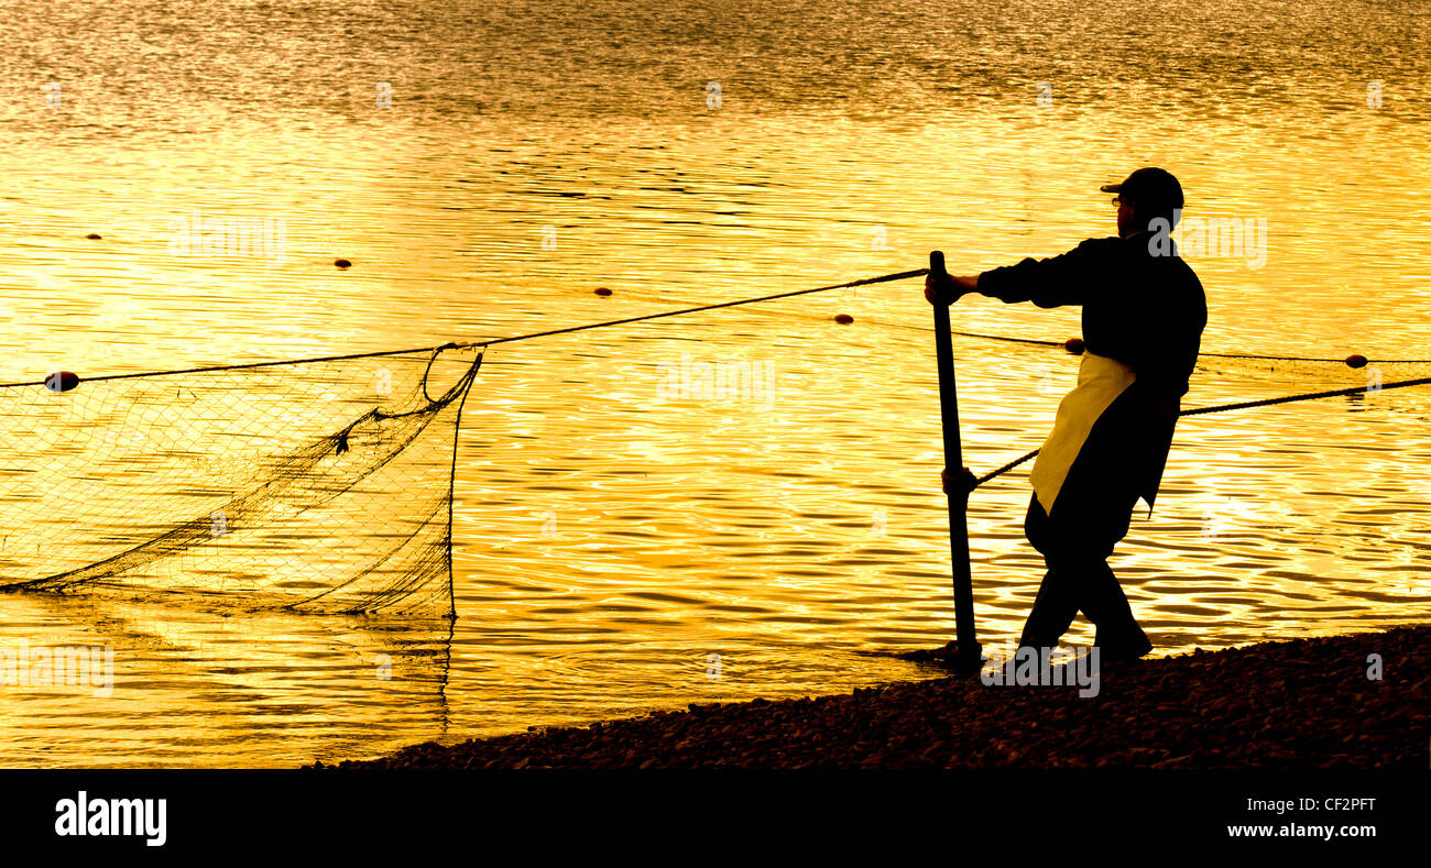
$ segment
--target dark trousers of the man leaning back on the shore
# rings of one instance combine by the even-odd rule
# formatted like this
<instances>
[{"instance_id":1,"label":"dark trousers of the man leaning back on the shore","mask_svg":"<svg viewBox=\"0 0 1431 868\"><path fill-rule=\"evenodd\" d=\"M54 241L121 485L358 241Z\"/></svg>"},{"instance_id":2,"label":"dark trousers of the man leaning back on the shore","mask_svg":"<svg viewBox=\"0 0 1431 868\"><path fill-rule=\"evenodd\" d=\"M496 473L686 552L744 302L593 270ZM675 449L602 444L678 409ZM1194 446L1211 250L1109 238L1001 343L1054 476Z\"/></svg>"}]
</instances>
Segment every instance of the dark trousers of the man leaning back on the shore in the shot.
<instances>
[{"instance_id":1,"label":"dark trousers of the man leaning back on the shore","mask_svg":"<svg viewBox=\"0 0 1431 868\"><path fill-rule=\"evenodd\" d=\"M1108 566L1113 546L1128 533L1138 495L1106 476L1079 473L1083 468L1078 463L1053 503L1053 515L1036 496L1029 503L1023 532L1049 571L1019 645L1058 645L1082 611L1098 626L1095 645L1105 656L1146 654L1148 636Z\"/></svg>"}]
</instances>

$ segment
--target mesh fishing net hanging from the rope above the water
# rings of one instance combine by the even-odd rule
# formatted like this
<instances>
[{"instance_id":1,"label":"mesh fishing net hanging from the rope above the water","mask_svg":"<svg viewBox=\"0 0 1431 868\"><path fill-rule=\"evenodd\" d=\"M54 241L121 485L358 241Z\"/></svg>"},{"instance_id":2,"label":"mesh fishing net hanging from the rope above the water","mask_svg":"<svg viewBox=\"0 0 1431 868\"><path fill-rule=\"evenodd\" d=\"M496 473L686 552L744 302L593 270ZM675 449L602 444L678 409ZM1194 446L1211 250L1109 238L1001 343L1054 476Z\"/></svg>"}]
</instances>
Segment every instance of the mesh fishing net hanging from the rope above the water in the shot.
<instances>
[{"instance_id":1,"label":"mesh fishing net hanging from the rope above the water","mask_svg":"<svg viewBox=\"0 0 1431 868\"><path fill-rule=\"evenodd\" d=\"M479 365L448 345L0 388L0 589L452 616Z\"/></svg>"}]
</instances>

